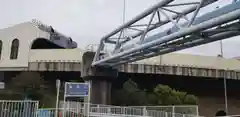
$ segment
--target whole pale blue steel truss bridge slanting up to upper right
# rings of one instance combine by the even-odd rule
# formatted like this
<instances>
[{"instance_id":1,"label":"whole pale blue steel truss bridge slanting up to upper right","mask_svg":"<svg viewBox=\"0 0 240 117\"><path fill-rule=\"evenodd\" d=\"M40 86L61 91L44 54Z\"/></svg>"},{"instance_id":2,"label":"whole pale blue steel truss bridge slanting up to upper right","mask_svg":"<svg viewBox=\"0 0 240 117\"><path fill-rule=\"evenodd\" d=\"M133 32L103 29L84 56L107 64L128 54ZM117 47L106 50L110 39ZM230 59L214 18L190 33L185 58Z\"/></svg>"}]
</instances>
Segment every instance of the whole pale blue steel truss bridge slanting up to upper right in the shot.
<instances>
[{"instance_id":1,"label":"whole pale blue steel truss bridge slanting up to upper right","mask_svg":"<svg viewBox=\"0 0 240 117\"><path fill-rule=\"evenodd\" d=\"M217 0L175 3L180 1L161 0L105 35L92 66L116 67L240 35L239 0L202 15L201 9ZM102 54L106 47L111 48Z\"/></svg>"}]
</instances>

